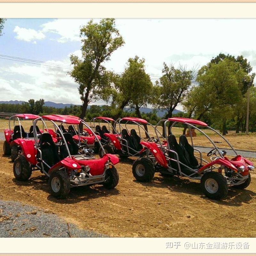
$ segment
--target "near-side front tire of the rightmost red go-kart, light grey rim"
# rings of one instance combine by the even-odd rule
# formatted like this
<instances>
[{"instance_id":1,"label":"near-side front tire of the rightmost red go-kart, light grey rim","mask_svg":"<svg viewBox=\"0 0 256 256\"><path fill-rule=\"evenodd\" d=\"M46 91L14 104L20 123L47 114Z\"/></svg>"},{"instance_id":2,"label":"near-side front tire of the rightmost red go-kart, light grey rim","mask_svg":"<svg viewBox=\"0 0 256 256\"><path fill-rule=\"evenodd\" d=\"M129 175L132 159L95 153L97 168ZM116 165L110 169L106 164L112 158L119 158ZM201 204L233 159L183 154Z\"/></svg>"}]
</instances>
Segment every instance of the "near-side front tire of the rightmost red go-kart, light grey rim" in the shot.
<instances>
[{"instance_id":1,"label":"near-side front tire of the rightmost red go-kart, light grey rim","mask_svg":"<svg viewBox=\"0 0 256 256\"><path fill-rule=\"evenodd\" d=\"M201 188L205 196L221 200L228 194L228 183L219 172L206 172L201 179Z\"/></svg>"}]
</instances>

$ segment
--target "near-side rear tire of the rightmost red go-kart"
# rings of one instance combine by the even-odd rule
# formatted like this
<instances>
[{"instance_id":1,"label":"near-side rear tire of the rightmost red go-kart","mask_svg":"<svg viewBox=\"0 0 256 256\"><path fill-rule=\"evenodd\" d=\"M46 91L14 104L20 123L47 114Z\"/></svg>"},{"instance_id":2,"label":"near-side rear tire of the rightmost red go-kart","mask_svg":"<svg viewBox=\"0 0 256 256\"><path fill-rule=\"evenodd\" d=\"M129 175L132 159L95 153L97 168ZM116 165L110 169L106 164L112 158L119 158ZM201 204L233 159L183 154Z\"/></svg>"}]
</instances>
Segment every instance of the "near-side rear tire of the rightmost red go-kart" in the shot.
<instances>
[{"instance_id":1,"label":"near-side rear tire of the rightmost red go-kart","mask_svg":"<svg viewBox=\"0 0 256 256\"><path fill-rule=\"evenodd\" d=\"M136 180L148 182L154 177L154 165L145 157L139 158L132 165L132 174Z\"/></svg>"}]
</instances>

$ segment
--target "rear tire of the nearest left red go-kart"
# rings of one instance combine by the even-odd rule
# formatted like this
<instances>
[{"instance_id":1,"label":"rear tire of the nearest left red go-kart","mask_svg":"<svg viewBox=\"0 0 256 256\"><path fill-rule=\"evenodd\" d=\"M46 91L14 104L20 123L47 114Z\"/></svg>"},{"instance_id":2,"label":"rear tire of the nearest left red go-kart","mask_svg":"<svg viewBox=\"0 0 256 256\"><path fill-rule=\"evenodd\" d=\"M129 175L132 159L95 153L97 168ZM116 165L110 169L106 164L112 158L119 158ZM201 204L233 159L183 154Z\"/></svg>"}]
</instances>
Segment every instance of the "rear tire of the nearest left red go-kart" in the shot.
<instances>
[{"instance_id":1,"label":"rear tire of the nearest left red go-kart","mask_svg":"<svg viewBox=\"0 0 256 256\"><path fill-rule=\"evenodd\" d=\"M24 156L19 156L13 163L13 174L16 180L28 180L31 176L32 170L28 161Z\"/></svg>"}]
</instances>

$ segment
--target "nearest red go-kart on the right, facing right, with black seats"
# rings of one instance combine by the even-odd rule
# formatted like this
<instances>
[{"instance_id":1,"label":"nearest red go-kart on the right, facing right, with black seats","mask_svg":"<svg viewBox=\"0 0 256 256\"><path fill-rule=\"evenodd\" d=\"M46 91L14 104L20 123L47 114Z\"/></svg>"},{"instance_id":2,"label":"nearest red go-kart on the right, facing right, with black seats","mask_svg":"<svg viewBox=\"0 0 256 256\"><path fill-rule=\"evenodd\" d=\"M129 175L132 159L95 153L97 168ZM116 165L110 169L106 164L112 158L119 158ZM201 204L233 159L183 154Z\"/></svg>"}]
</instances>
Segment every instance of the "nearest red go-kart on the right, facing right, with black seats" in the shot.
<instances>
[{"instance_id":1,"label":"nearest red go-kart on the right, facing right, with black seats","mask_svg":"<svg viewBox=\"0 0 256 256\"><path fill-rule=\"evenodd\" d=\"M164 122L166 140L161 142L158 137L157 126ZM171 123L170 123L171 122ZM171 124L171 134L167 136L166 124ZM189 129L191 145L185 135L180 135L179 143L172 134L172 127L175 124L184 124ZM218 134L236 154L229 159L227 152L220 150L203 129L198 126L212 130ZM193 145L191 129L201 132L212 144L213 148L207 154L211 161L203 159L202 152ZM192 180L200 180L201 188L205 196L220 200L227 196L228 187L244 189L251 182L250 170L254 169L253 164L248 159L237 154L236 150L219 132L208 126L202 121L190 118L169 118L161 120L155 127L156 136L159 144L143 141L141 144L148 148L145 157L137 159L132 166L133 176L138 181L150 181L155 172L163 175L188 177ZM194 155L194 150L198 151L199 156ZM203 164L204 163L204 164Z\"/></svg>"}]
</instances>

